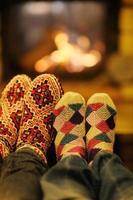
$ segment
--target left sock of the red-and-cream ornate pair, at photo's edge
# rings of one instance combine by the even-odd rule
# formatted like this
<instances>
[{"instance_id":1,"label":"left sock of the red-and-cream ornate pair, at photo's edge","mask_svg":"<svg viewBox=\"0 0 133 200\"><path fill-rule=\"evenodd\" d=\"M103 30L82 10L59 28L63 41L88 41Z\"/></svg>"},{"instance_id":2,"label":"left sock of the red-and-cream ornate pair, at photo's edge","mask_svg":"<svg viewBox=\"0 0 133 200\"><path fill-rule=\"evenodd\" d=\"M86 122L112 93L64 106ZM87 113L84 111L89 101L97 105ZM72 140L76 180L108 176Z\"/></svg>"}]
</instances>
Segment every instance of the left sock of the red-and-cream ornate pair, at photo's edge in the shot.
<instances>
[{"instance_id":1,"label":"left sock of the red-and-cream ornate pair, at photo's edge","mask_svg":"<svg viewBox=\"0 0 133 200\"><path fill-rule=\"evenodd\" d=\"M22 116L23 99L31 84L26 75L15 76L5 87L0 103L0 155L14 150Z\"/></svg>"}]
</instances>

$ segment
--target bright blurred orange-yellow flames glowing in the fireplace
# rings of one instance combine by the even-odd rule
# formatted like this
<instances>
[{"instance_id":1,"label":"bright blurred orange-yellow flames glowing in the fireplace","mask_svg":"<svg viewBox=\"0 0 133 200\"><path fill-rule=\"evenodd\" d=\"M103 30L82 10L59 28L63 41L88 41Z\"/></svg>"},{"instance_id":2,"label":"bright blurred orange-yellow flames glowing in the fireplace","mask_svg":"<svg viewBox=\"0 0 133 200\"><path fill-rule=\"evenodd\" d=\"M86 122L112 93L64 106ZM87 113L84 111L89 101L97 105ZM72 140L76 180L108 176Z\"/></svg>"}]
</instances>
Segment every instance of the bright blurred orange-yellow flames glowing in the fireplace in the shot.
<instances>
[{"instance_id":1,"label":"bright blurred orange-yellow flames glowing in the fireplace","mask_svg":"<svg viewBox=\"0 0 133 200\"><path fill-rule=\"evenodd\" d=\"M76 42L70 42L65 32L59 32L54 38L57 49L37 61L35 70L45 72L52 66L63 64L69 72L80 72L86 67L93 67L102 59L101 53L89 50L90 40L86 36L79 36Z\"/></svg>"}]
</instances>

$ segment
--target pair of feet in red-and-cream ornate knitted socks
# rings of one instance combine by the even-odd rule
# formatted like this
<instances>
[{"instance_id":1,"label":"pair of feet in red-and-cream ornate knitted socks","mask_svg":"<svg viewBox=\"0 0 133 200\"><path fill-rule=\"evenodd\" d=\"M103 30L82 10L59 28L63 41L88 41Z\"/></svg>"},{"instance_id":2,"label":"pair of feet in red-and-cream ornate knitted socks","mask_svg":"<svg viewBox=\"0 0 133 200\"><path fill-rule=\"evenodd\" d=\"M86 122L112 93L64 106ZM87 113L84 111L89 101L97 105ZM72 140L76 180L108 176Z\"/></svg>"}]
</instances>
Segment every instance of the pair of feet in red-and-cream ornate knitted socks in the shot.
<instances>
[{"instance_id":1,"label":"pair of feet in red-and-cream ornate knitted socks","mask_svg":"<svg viewBox=\"0 0 133 200\"><path fill-rule=\"evenodd\" d=\"M43 74L33 81L26 75L15 76L0 99L0 155L33 150L45 160L53 140L52 113L63 94L54 75Z\"/></svg>"}]
</instances>

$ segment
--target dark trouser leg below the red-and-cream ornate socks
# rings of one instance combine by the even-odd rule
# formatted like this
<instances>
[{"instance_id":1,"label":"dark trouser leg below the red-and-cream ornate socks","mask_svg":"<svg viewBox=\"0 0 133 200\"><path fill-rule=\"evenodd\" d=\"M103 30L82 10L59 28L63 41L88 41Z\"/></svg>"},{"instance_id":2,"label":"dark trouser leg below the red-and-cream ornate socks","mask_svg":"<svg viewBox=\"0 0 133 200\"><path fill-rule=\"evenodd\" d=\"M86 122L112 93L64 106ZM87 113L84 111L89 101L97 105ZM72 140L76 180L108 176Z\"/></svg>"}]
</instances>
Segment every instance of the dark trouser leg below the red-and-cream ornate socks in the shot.
<instances>
[{"instance_id":1,"label":"dark trouser leg below the red-and-cream ornate socks","mask_svg":"<svg viewBox=\"0 0 133 200\"><path fill-rule=\"evenodd\" d=\"M40 177L46 166L26 150L15 152L3 161L0 176L0 200L40 200Z\"/></svg>"}]
</instances>

